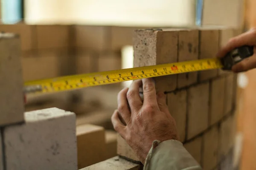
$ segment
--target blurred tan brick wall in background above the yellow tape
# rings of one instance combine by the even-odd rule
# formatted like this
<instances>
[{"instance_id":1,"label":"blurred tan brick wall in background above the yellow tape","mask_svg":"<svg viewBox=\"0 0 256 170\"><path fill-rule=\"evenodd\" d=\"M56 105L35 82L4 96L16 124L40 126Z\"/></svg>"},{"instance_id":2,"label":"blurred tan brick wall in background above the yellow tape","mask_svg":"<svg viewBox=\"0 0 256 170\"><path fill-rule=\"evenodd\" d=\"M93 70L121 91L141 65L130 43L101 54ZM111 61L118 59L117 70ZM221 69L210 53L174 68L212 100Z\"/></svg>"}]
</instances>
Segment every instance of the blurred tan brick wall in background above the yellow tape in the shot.
<instances>
[{"instance_id":1,"label":"blurred tan brick wall in background above the yellow tape","mask_svg":"<svg viewBox=\"0 0 256 170\"><path fill-rule=\"evenodd\" d=\"M0 25L20 35L24 81L121 68L121 49L136 28Z\"/></svg>"}]
</instances>

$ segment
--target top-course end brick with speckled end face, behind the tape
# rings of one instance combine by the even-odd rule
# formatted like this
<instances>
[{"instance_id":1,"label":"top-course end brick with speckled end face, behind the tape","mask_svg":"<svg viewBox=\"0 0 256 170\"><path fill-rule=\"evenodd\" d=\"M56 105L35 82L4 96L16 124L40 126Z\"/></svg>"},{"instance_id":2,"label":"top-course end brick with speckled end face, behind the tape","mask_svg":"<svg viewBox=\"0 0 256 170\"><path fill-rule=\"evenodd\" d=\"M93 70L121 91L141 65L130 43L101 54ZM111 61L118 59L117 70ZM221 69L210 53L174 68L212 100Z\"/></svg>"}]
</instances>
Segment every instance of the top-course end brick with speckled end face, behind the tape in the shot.
<instances>
[{"instance_id":1,"label":"top-course end brick with speckled end face, behind the tape","mask_svg":"<svg viewBox=\"0 0 256 170\"><path fill-rule=\"evenodd\" d=\"M177 62L178 31L137 30L133 35L134 67ZM157 91L173 91L177 75L156 77Z\"/></svg>"}]
</instances>

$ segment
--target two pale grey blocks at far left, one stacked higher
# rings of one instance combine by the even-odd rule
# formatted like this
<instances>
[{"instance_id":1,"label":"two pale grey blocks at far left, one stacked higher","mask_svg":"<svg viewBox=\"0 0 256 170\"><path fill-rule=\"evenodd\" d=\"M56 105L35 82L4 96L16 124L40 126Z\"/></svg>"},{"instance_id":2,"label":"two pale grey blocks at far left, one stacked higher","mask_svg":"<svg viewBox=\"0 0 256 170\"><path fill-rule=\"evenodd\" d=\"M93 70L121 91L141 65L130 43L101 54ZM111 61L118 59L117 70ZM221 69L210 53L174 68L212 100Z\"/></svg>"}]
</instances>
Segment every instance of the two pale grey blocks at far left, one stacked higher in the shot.
<instances>
[{"instance_id":1,"label":"two pale grey blocks at far left, one stacked higher","mask_svg":"<svg viewBox=\"0 0 256 170\"><path fill-rule=\"evenodd\" d=\"M24 113L20 38L0 39L0 170L75 170L75 114L58 108Z\"/></svg>"}]
</instances>

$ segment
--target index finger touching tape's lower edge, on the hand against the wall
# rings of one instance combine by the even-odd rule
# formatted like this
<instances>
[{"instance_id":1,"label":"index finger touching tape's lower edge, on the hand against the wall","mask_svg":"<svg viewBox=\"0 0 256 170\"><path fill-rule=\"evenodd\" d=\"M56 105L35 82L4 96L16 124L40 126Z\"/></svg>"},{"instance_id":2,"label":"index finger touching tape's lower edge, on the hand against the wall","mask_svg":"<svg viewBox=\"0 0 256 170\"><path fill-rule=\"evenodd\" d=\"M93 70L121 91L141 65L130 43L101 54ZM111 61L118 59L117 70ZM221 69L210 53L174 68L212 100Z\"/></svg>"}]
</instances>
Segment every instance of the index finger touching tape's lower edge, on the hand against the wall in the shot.
<instances>
[{"instance_id":1,"label":"index finger touching tape's lower edge, on the hand against the wall","mask_svg":"<svg viewBox=\"0 0 256 170\"><path fill-rule=\"evenodd\" d=\"M157 94L155 83L152 78L142 79L143 82L143 105L150 105L151 107L158 107Z\"/></svg>"}]
</instances>

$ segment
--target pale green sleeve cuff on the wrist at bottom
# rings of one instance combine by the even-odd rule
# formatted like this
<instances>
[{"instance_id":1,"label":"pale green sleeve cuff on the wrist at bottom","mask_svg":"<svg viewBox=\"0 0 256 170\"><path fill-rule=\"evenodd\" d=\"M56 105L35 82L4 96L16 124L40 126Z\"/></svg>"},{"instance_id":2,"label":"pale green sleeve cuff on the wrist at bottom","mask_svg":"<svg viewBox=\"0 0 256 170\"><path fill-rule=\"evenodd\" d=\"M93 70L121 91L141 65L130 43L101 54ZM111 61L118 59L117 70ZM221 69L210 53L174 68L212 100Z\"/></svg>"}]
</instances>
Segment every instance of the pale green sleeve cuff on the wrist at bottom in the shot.
<instances>
[{"instance_id":1,"label":"pale green sleeve cuff on the wrist at bottom","mask_svg":"<svg viewBox=\"0 0 256 170\"><path fill-rule=\"evenodd\" d=\"M197 161L177 140L155 140L143 170L202 170Z\"/></svg>"}]
</instances>

